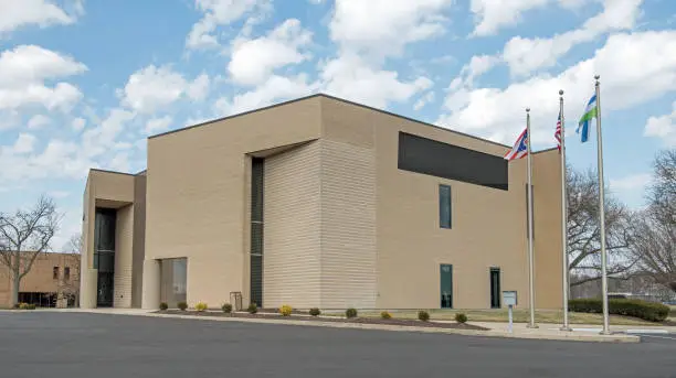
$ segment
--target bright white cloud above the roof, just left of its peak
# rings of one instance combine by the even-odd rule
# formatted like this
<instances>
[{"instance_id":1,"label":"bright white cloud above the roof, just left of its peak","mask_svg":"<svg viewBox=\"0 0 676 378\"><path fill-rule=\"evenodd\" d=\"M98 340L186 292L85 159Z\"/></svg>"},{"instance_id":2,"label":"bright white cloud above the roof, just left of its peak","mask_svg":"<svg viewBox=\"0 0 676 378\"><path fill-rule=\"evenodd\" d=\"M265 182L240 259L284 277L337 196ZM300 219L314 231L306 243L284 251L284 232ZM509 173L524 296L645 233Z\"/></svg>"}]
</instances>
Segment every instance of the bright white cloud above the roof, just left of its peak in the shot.
<instances>
[{"instance_id":1,"label":"bright white cloud above the roof, just left of its peak","mask_svg":"<svg viewBox=\"0 0 676 378\"><path fill-rule=\"evenodd\" d=\"M299 48L310 42L311 33L300 26L300 21L286 20L265 36L235 40L228 71L237 84L261 84L276 68L309 58Z\"/></svg>"}]
</instances>

